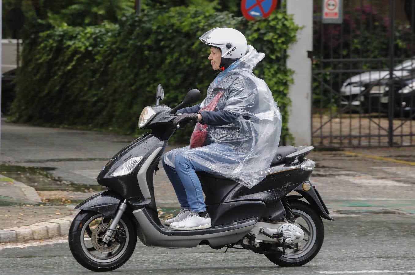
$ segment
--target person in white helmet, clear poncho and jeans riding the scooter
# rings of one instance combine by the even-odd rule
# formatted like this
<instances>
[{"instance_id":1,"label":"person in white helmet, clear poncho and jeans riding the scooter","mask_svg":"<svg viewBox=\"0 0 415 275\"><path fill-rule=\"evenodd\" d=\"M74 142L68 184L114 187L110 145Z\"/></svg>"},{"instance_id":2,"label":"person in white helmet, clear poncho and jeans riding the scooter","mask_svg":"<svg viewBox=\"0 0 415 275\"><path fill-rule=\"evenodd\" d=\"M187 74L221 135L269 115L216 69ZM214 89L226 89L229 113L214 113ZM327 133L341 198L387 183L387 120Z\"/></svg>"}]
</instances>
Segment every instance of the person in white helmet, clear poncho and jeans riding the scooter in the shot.
<instances>
[{"instance_id":1,"label":"person in white helmet, clear poncho and jeans riding the scooter","mask_svg":"<svg viewBox=\"0 0 415 275\"><path fill-rule=\"evenodd\" d=\"M173 229L211 227L196 171L232 178L251 188L266 176L276 155L281 114L266 83L252 69L264 58L244 35L215 28L200 37L210 46L208 59L219 75L201 104L178 110L173 124L197 120L190 146L164 155L163 167L181 204L164 224Z\"/></svg>"}]
</instances>

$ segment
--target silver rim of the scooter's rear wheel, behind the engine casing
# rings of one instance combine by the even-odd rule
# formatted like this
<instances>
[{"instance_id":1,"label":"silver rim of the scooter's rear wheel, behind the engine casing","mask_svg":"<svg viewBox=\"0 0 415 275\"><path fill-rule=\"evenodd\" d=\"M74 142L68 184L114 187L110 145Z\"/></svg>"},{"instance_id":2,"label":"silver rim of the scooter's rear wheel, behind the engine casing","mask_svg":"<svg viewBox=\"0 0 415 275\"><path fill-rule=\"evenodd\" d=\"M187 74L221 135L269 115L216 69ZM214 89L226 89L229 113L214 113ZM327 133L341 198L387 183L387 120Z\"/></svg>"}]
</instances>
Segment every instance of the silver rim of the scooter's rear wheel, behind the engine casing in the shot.
<instances>
[{"instance_id":1,"label":"silver rim of the scooter's rear wheel, behind the engine casing","mask_svg":"<svg viewBox=\"0 0 415 275\"><path fill-rule=\"evenodd\" d=\"M285 250L285 255L282 257L290 259L300 258L308 253L313 248L317 238L316 226L310 215L298 209L293 209L293 213L295 225L304 231L304 239L300 244L290 245L289 247L292 248Z\"/></svg>"}]
</instances>

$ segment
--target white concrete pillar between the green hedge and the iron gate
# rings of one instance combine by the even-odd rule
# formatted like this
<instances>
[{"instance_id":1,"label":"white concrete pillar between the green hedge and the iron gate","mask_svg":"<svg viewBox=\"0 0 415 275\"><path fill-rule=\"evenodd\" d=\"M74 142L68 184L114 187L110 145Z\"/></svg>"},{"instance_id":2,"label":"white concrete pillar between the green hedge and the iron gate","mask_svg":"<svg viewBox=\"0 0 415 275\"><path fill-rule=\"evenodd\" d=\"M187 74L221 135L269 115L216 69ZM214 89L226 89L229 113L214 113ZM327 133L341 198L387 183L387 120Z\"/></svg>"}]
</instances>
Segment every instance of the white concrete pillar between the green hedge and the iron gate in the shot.
<instances>
[{"instance_id":1,"label":"white concrete pillar between the green hedge and the iron gate","mask_svg":"<svg viewBox=\"0 0 415 275\"><path fill-rule=\"evenodd\" d=\"M288 96L288 129L296 146L311 144L311 59L312 51L312 0L286 0L287 13L293 15L295 24L303 27L297 32L297 42L288 49L287 67L294 71L294 83Z\"/></svg>"}]
</instances>

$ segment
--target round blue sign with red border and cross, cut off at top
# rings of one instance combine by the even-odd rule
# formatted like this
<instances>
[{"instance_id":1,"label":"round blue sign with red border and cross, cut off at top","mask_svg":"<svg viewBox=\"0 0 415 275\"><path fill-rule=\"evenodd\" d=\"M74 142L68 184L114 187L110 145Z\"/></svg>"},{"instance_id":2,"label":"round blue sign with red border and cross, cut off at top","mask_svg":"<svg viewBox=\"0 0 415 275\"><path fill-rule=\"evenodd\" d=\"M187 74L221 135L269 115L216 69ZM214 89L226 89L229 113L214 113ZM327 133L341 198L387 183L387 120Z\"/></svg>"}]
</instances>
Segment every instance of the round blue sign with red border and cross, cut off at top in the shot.
<instances>
[{"instance_id":1,"label":"round blue sign with red border and cross, cut off at top","mask_svg":"<svg viewBox=\"0 0 415 275\"><path fill-rule=\"evenodd\" d=\"M278 0L242 0L241 10L246 19L254 20L255 17L269 17L277 4Z\"/></svg>"}]
</instances>

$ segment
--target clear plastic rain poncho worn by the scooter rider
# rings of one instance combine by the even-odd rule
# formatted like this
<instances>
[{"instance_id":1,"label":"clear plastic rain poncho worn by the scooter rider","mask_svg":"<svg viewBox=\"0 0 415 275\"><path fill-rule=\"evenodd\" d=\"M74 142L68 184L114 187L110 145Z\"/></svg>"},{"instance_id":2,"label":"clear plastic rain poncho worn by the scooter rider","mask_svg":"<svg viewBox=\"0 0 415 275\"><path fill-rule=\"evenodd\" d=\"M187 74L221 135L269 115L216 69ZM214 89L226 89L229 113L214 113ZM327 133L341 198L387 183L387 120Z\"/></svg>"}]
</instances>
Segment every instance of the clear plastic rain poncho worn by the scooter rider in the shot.
<instances>
[{"instance_id":1,"label":"clear plastic rain poncho worn by the scooter rider","mask_svg":"<svg viewBox=\"0 0 415 275\"><path fill-rule=\"evenodd\" d=\"M175 167L175 156L182 154L199 167L203 166L200 170L233 179L249 188L265 178L280 140L281 114L264 80L252 73L264 56L248 45L245 56L217 75L200 107L206 107L223 92L215 110L228 110L239 117L228 125L207 125L210 144L174 149L164 156L167 165ZM200 130L199 123L196 130Z\"/></svg>"}]
</instances>

